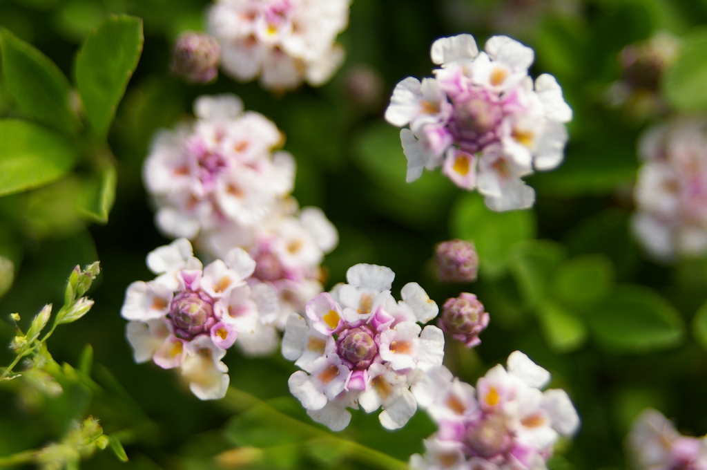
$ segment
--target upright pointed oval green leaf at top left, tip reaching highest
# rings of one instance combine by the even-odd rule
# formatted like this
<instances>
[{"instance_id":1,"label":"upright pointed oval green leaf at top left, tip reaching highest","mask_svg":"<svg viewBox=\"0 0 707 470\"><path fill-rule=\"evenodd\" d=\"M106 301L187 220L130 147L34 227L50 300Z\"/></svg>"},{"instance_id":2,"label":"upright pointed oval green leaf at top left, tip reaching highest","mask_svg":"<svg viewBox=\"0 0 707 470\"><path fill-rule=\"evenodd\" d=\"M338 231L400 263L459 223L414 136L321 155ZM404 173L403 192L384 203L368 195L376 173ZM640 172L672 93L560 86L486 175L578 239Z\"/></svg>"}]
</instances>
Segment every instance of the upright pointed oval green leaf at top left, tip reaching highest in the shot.
<instances>
[{"instance_id":1,"label":"upright pointed oval green leaf at top left, tip reaching highest","mask_svg":"<svg viewBox=\"0 0 707 470\"><path fill-rule=\"evenodd\" d=\"M88 35L76 57L76 88L99 139L107 135L117 105L137 67L143 42L140 18L110 16Z\"/></svg>"}]
</instances>

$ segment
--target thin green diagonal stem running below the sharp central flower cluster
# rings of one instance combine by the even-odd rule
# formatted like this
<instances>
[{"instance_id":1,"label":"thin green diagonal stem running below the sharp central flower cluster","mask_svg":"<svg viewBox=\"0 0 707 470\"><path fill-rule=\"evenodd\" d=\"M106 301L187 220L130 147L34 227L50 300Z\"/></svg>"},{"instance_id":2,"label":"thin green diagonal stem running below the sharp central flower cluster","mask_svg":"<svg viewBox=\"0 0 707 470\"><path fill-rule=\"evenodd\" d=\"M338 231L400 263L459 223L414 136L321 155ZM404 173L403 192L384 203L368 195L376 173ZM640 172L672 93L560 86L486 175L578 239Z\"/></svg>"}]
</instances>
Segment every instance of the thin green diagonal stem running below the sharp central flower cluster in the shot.
<instances>
[{"instance_id":1,"label":"thin green diagonal stem running below the sharp central flower cluster","mask_svg":"<svg viewBox=\"0 0 707 470\"><path fill-rule=\"evenodd\" d=\"M297 429L300 430L303 436L313 436L305 443L317 445L318 442L322 442L322 444L326 445L326 441L329 441L329 445L337 445L345 449L347 457L356 459L363 464L386 470L406 470L408 468L407 462L403 462L395 457L390 457L390 455L384 452L371 449L358 442L344 439L344 437L339 437L332 432L322 430L314 425L303 423L292 416L276 410L276 408L273 408L267 402L258 399L256 396L247 394L245 391L228 387L226 396L219 403L225 405L226 408L235 413L241 413L253 406L259 406L264 411L267 411L268 414L272 415L274 420L280 423L283 428L287 428L288 430Z\"/></svg>"}]
</instances>

